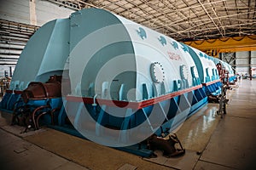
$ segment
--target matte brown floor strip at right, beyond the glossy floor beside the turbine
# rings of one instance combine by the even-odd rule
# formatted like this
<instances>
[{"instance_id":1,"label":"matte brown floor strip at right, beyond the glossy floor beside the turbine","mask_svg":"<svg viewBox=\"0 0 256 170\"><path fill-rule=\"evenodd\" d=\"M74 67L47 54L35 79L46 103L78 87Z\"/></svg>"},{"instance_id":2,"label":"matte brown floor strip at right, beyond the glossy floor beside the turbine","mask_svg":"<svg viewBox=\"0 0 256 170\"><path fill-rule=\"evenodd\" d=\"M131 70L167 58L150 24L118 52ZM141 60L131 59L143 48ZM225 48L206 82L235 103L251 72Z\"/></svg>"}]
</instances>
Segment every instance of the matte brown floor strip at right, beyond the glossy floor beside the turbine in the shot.
<instances>
[{"instance_id":1,"label":"matte brown floor strip at right, beyond the glossy floor beside the turbine","mask_svg":"<svg viewBox=\"0 0 256 170\"><path fill-rule=\"evenodd\" d=\"M237 85L227 115L212 133L195 169L209 169L212 164L256 169L256 81L243 80Z\"/></svg>"}]
</instances>

